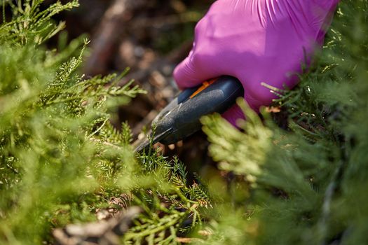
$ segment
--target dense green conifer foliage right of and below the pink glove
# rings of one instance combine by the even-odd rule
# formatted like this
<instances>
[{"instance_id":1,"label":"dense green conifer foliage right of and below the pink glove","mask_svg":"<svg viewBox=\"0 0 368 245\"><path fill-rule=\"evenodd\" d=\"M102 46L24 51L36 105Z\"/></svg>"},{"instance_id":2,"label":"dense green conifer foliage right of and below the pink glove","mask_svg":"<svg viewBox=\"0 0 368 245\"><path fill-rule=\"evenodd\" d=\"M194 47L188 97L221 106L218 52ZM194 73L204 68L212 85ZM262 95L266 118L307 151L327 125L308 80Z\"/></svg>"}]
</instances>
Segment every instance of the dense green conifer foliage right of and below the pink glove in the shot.
<instances>
[{"instance_id":1,"label":"dense green conifer foliage right of and below the pink glove","mask_svg":"<svg viewBox=\"0 0 368 245\"><path fill-rule=\"evenodd\" d=\"M341 1L315 67L294 90L273 89L287 130L243 102L243 133L203 119L212 157L250 192L215 209L211 244L367 244L367 10Z\"/></svg>"}]
</instances>

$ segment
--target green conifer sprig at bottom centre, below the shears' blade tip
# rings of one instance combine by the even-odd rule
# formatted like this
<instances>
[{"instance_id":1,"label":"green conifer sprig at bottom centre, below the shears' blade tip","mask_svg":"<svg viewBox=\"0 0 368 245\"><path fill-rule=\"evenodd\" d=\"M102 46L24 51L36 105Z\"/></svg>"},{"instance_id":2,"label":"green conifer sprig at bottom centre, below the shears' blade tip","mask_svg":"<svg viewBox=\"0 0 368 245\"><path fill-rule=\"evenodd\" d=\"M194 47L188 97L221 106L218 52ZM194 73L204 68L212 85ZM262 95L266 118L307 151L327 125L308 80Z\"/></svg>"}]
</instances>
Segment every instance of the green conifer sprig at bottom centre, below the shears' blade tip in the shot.
<instances>
[{"instance_id":1,"label":"green conifer sprig at bottom centre, below the shears' blade tip","mask_svg":"<svg viewBox=\"0 0 368 245\"><path fill-rule=\"evenodd\" d=\"M151 151L139 155L139 161L145 181L147 176L152 179L147 186L149 190L142 189L139 178L135 180L141 183L141 188L137 185L133 202L145 212L123 241L176 242L179 232L189 231L202 222L199 209L210 206L210 197L201 183L187 183L186 168L177 158L168 162L157 151Z\"/></svg>"}]
</instances>

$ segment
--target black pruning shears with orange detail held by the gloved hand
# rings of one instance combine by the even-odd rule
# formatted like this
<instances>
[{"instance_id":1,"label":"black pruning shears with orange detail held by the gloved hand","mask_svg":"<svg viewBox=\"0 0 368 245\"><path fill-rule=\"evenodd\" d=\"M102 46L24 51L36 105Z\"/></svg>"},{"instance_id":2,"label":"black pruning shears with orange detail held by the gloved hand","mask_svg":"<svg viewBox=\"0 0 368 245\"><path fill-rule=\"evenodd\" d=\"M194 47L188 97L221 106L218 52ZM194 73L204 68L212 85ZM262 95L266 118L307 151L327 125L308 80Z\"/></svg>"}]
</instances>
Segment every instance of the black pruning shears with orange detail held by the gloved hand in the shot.
<instances>
[{"instance_id":1,"label":"black pruning shears with orange detail held by the gloved hand","mask_svg":"<svg viewBox=\"0 0 368 245\"><path fill-rule=\"evenodd\" d=\"M158 113L152 121L154 130L148 139L138 144L135 152L145 151L158 142L170 145L189 137L200 130L202 116L224 113L243 94L240 81L232 76L207 80L202 85L184 90Z\"/></svg>"}]
</instances>

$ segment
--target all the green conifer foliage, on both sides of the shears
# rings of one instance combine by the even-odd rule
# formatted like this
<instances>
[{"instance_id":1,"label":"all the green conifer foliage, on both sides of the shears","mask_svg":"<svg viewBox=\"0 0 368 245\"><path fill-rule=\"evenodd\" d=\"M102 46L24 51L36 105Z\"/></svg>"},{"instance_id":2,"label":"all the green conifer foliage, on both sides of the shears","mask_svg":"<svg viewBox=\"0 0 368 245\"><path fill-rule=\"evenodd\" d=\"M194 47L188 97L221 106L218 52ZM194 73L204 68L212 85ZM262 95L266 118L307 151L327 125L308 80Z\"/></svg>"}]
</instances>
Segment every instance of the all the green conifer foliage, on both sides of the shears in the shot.
<instances>
[{"instance_id":1,"label":"all the green conifer foliage, on both sides of the shears","mask_svg":"<svg viewBox=\"0 0 368 245\"><path fill-rule=\"evenodd\" d=\"M0 244L53 243L53 229L96 221L116 197L116 209L141 210L121 244L368 243L366 0L341 1L297 88L271 88L287 125L242 101L241 132L203 118L228 178L193 183L178 159L133 153L128 125L111 125L116 106L144 92L118 83L128 70L85 78L88 41L44 46L64 27L53 15L78 1L41 3L1 1Z\"/></svg>"}]
</instances>

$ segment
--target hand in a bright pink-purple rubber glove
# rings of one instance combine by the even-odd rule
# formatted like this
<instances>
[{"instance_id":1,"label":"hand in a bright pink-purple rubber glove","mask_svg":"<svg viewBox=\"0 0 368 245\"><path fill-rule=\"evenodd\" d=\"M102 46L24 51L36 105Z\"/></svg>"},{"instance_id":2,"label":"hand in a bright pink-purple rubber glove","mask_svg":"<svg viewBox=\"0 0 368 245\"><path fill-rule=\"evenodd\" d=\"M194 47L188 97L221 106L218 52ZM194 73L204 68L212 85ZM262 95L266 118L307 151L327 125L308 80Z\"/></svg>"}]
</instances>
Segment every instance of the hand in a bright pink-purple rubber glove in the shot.
<instances>
[{"instance_id":1,"label":"hand in a bright pink-purple rubber glove","mask_svg":"<svg viewBox=\"0 0 368 245\"><path fill-rule=\"evenodd\" d=\"M275 96L261 83L294 87L301 65L308 66L322 45L339 0L217 0L195 29L193 49L177 66L180 88L222 75L243 84L254 111ZM224 113L236 125L238 106Z\"/></svg>"}]
</instances>

